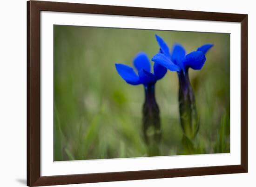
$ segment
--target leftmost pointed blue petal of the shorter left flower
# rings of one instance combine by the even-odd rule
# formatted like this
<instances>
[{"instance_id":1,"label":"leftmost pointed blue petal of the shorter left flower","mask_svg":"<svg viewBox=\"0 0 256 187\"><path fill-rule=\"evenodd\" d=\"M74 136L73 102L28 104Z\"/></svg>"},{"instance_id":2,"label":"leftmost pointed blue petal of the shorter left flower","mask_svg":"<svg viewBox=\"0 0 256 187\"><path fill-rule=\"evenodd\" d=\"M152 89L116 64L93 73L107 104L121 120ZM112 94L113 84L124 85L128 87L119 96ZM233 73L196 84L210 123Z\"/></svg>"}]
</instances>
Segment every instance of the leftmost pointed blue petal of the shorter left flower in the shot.
<instances>
[{"instance_id":1,"label":"leftmost pointed blue petal of the shorter left flower","mask_svg":"<svg viewBox=\"0 0 256 187\"><path fill-rule=\"evenodd\" d=\"M132 67L124 64L115 64L115 68L121 78L123 78L127 83L132 85L141 84L139 76L135 73Z\"/></svg>"}]
</instances>

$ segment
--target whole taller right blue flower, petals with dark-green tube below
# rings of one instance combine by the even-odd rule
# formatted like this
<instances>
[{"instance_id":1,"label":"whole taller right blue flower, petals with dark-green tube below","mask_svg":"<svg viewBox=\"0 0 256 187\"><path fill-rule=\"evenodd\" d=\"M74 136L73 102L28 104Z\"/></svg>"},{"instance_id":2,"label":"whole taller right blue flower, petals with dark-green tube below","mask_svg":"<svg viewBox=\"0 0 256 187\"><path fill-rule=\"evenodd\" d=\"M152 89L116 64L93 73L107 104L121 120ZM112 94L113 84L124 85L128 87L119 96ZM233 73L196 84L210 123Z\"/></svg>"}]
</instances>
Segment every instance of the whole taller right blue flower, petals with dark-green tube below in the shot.
<instances>
[{"instance_id":1,"label":"whole taller right blue flower, petals with dark-green tube below","mask_svg":"<svg viewBox=\"0 0 256 187\"><path fill-rule=\"evenodd\" d=\"M184 140L193 140L199 129L199 116L195 107L195 96L189 80L189 67L199 70L203 67L206 58L205 54L213 47L212 44L205 44L196 51L186 54L185 49L180 44L175 44L172 52L164 40L155 35L160 46L160 51L152 61L170 71L176 71L179 78L179 112ZM184 143L186 146L187 143ZM190 148L188 149L190 150Z\"/></svg>"}]
</instances>

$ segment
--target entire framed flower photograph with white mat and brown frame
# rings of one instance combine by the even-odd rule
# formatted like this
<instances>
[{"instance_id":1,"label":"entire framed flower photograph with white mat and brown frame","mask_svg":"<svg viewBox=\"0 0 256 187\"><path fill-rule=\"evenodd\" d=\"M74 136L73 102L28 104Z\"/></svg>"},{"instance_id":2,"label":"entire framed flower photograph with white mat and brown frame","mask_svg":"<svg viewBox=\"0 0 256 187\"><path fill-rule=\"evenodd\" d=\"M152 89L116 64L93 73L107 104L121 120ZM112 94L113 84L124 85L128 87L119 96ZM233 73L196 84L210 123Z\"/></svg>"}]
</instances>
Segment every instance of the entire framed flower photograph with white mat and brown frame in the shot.
<instances>
[{"instance_id":1,"label":"entire framed flower photograph with white mat and brown frame","mask_svg":"<svg viewBox=\"0 0 256 187\"><path fill-rule=\"evenodd\" d=\"M27 1L27 186L248 171L248 15Z\"/></svg>"}]
</instances>

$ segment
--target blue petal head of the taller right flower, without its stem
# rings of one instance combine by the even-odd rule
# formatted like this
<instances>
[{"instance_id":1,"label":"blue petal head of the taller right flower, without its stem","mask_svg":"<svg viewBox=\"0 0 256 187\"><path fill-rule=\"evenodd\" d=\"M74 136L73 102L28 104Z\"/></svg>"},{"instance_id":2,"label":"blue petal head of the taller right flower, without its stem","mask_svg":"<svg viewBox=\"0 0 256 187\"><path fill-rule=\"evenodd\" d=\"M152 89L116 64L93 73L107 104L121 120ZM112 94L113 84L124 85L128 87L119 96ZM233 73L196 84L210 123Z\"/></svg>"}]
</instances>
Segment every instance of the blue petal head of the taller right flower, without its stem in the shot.
<instances>
[{"instance_id":1,"label":"blue petal head of the taller right flower, without its stem","mask_svg":"<svg viewBox=\"0 0 256 187\"><path fill-rule=\"evenodd\" d=\"M170 53L169 47L164 40L158 35L155 35L155 37L160 46L160 52L152 58L152 61L159 63L170 71L183 71L186 73L189 67L195 70L200 70L206 60L205 54L211 47L213 47L212 44L205 44L198 47L196 51L186 54L182 45L175 44Z\"/></svg>"}]
</instances>

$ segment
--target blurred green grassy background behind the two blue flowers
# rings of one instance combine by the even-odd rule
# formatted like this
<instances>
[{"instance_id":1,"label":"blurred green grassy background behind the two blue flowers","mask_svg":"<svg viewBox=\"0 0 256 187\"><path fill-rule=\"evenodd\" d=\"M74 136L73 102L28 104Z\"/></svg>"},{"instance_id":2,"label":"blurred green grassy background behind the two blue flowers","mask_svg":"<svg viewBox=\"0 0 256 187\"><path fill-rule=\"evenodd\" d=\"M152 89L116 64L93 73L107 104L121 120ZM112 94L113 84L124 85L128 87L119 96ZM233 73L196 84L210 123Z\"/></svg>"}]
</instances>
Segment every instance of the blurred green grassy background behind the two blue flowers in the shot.
<instances>
[{"instance_id":1,"label":"blurred green grassy background behind the two blue flowers","mask_svg":"<svg viewBox=\"0 0 256 187\"><path fill-rule=\"evenodd\" d=\"M115 63L133 66L141 51L151 59L159 50L155 34L187 53L214 44L202 70L189 70L200 115L194 154L229 153L229 33L55 25L54 161L147 156L143 86L122 80ZM170 71L155 86L162 156L183 154L178 89L177 73Z\"/></svg>"}]
</instances>

